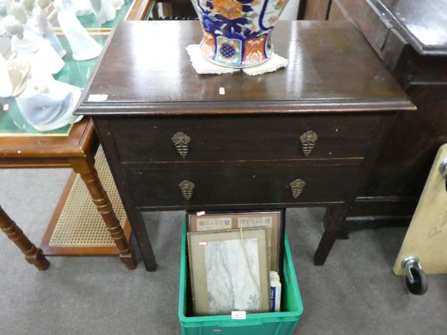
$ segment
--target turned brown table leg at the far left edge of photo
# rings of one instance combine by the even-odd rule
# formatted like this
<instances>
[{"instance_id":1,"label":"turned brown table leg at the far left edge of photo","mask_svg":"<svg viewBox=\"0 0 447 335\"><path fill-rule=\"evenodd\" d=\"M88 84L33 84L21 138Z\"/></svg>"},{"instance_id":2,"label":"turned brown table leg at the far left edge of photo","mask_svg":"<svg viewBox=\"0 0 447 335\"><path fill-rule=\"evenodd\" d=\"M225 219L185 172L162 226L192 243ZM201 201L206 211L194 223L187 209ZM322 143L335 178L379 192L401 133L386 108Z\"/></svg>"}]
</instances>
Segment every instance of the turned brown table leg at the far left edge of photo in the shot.
<instances>
[{"instance_id":1,"label":"turned brown table leg at the far left edge of photo","mask_svg":"<svg viewBox=\"0 0 447 335\"><path fill-rule=\"evenodd\" d=\"M39 270L46 270L50 262L43 256L42 250L36 248L34 244L23 234L14 221L4 212L0 206L0 228L6 236L20 248L25 255L25 260L34 265Z\"/></svg>"}]
</instances>

